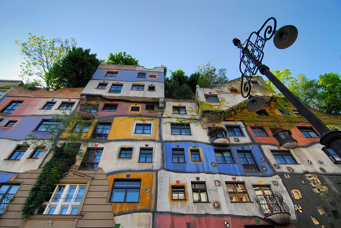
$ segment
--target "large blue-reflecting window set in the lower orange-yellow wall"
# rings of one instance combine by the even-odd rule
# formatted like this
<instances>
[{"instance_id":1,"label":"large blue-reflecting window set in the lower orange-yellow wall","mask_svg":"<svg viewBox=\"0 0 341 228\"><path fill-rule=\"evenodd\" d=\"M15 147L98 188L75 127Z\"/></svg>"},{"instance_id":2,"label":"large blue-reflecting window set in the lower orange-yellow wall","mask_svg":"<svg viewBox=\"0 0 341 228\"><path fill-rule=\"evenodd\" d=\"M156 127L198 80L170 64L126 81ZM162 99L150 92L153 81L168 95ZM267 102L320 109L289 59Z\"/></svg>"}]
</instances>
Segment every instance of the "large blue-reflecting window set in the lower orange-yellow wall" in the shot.
<instances>
[{"instance_id":1,"label":"large blue-reflecting window set in the lower orange-yellow wall","mask_svg":"<svg viewBox=\"0 0 341 228\"><path fill-rule=\"evenodd\" d=\"M111 202L138 202L140 197L140 180L114 181Z\"/></svg>"}]
</instances>

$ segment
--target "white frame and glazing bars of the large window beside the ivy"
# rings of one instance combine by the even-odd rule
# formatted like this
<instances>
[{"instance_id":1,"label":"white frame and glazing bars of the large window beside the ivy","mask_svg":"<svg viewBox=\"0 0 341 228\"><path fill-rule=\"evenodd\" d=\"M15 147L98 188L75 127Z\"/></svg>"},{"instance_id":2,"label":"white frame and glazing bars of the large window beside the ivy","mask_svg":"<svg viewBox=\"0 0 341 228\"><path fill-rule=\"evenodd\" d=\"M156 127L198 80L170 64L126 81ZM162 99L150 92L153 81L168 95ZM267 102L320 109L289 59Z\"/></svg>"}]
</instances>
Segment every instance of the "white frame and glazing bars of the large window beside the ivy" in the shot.
<instances>
[{"instance_id":1,"label":"white frame and glazing bars of the large window beside the ivy","mask_svg":"<svg viewBox=\"0 0 341 228\"><path fill-rule=\"evenodd\" d=\"M62 192L62 195L60 196L60 200L59 200L59 202L52 202L55 194L57 194L57 192L58 192L58 187L60 185L65 185L65 188L64 188L64 190ZM79 186L84 186L85 187L83 196L82 196L82 198L80 199L79 202L63 202L63 199L66 198L65 196L66 196L70 186L77 186L76 189L75 189L75 192L73 193L74 195L77 194L77 192L79 190ZM47 214L50 205L56 205L56 209L55 209L55 211L53 213L54 215L57 215L59 210L60 210L60 208L61 208L61 206L64 206L64 205L68 205L69 206L69 208L66 211L65 215L69 215L70 214L72 206L78 206L77 213L76 213L76 214L78 214L80 203L83 200L83 197L84 197L84 194L86 192L86 189L87 189L87 184L57 184L55 189L54 189L54 191L53 191L53 193L52 193L51 198L49 199L49 201L48 202L43 202L41 204L41 206L45 206L46 205L46 208L45 208L45 210L44 210L44 212L42 214ZM74 200L75 200L75 197L72 198L72 201L74 201ZM61 214L61 215L64 215L64 214Z\"/></svg>"}]
</instances>

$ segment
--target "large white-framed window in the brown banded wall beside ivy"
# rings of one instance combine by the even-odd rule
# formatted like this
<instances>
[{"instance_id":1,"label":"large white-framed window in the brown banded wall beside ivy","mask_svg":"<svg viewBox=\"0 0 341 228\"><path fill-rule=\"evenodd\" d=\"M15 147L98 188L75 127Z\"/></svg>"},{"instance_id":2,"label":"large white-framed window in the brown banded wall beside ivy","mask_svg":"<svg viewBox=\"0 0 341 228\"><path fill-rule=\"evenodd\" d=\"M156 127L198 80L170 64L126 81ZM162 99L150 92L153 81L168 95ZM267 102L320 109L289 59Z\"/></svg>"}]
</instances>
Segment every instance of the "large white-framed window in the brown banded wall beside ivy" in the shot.
<instances>
[{"instance_id":1,"label":"large white-framed window in the brown banded wall beside ivy","mask_svg":"<svg viewBox=\"0 0 341 228\"><path fill-rule=\"evenodd\" d=\"M86 185L58 184L49 195L51 198L43 202L37 214L77 214Z\"/></svg>"}]
</instances>

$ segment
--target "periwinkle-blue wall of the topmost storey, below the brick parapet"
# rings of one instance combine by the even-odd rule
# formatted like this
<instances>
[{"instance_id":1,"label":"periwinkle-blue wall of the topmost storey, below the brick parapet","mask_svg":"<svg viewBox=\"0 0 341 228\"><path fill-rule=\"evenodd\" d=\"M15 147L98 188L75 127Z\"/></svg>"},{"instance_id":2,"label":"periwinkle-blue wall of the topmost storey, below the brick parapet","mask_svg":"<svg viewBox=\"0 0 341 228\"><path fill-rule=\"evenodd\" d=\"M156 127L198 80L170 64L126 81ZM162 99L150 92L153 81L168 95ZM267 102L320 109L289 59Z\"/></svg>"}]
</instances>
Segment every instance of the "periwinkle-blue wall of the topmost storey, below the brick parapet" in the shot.
<instances>
[{"instance_id":1,"label":"periwinkle-blue wall of the topmost storey, below the brick parapet","mask_svg":"<svg viewBox=\"0 0 341 228\"><path fill-rule=\"evenodd\" d=\"M131 70L112 70L118 71L117 77L104 77L103 75L105 72L110 71L108 69L97 69L96 72L93 74L92 79L100 79L100 80L114 80L114 81L155 81L155 82L163 82L163 72L154 72L154 71L131 71ZM137 73L146 73L146 78L138 78ZM158 74L158 78L148 78L148 74L154 73Z\"/></svg>"}]
</instances>

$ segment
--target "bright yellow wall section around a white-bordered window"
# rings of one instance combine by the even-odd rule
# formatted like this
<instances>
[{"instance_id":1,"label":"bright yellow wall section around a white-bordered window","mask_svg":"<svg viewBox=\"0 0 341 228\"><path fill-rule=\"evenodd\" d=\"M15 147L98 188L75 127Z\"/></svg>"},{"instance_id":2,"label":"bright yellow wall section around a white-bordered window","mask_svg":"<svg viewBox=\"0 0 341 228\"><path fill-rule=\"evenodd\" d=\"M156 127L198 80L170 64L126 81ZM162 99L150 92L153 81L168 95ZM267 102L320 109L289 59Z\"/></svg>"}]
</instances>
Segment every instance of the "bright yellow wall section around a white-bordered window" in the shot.
<instances>
[{"instance_id":1,"label":"bright yellow wall section around a white-bordered window","mask_svg":"<svg viewBox=\"0 0 341 228\"><path fill-rule=\"evenodd\" d=\"M138 136L132 134L135 121L146 120L146 123L153 122L153 132L151 136ZM130 118L130 117L116 117L110 128L108 139L117 138L136 138L136 139L158 139L158 119L154 118Z\"/></svg>"}]
</instances>

